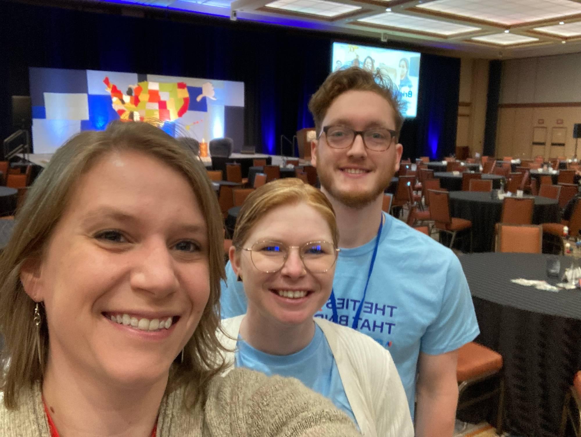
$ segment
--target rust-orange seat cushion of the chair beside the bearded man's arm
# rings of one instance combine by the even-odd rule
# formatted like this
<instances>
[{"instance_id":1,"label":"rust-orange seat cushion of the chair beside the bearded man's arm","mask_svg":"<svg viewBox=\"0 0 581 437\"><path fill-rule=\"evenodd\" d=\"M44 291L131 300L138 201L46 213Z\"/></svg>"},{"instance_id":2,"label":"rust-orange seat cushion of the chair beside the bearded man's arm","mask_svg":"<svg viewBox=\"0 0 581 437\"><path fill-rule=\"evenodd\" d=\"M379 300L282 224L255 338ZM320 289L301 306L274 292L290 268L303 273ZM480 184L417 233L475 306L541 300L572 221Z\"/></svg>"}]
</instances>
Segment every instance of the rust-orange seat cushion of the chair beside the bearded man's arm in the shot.
<instances>
[{"instance_id":1,"label":"rust-orange seat cushion of the chair beside the bearded man's arm","mask_svg":"<svg viewBox=\"0 0 581 437\"><path fill-rule=\"evenodd\" d=\"M458 382L503 368L503 357L482 344L470 342L458 350Z\"/></svg>"}]
</instances>

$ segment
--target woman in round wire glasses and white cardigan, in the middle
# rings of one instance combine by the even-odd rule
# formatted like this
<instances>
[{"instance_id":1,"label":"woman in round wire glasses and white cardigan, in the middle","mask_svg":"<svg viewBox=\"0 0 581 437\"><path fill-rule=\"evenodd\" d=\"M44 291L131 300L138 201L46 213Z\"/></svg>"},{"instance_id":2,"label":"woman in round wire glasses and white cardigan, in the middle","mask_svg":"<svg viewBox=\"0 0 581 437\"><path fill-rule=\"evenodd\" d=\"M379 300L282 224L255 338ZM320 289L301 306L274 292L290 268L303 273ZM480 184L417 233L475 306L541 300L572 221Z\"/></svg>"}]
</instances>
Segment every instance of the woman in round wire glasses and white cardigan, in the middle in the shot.
<instances>
[{"instance_id":1,"label":"woman in round wire glasses and white cardigan, in the middle","mask_svg":"<svg viewBox=\"0 0 581 437\"><path fill-rule=\"evenodd\" d=\"M299 179L276 180L246 198L229 258L248 311L222 321L228 336L221 341L232 351L227 363L299 379L365 436L413 436L389 352L347 326L313 317L331 294L338 238L331 204Z\"/></svg>"}]
</instances>

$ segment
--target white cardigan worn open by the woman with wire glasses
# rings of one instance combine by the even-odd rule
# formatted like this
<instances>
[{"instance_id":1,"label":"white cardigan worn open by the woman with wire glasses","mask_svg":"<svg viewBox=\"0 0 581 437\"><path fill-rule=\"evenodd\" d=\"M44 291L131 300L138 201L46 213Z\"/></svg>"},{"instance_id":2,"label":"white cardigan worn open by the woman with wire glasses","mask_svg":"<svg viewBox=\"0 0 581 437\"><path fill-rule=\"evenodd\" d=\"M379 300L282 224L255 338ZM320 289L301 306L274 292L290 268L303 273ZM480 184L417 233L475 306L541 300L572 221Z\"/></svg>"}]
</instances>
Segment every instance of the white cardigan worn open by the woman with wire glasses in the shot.
<instances>
[{"instance_id":1,"label":"white cardigan worn open by the woman with wire glasses","mask_svg":"<svg viewBox=\"0 0 581 437\"><path fill-rule=\"evenodd\" d=\"M221 335L226 353L227 373L234 367L234 350L245 314L224 319L222 328L232 339ZM331 347L339 376L353 415L366 437L413 437L406 392L392 356L375 340L347 326L314 318Z\"/></svg>"}]
</instances>

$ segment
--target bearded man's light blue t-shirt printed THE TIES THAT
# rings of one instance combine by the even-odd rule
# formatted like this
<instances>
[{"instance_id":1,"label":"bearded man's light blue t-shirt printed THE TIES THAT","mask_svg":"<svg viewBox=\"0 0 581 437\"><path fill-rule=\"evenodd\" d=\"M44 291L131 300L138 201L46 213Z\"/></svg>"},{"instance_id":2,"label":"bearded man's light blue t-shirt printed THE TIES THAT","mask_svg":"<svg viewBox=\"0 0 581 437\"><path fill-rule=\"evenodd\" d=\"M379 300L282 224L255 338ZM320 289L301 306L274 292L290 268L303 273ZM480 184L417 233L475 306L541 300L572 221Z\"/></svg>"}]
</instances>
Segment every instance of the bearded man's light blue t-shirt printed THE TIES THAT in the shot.
<instances>
[{"instance_id":1,"label":"bearded man's light blue t-shirt printed THE TIES THAT","mask_svg":"<svg viewBox=\"0 0 581 437\"><path fill-rule=\"evenodd\" d=\"M357 331L391 353L414 416L415 376L420 351L439 355L458 349L479 334L474 304L460 261L447 247L385 215L374 269ZM341 248L333 289L338 322L353 326L363 297L375 238ZM242 282L228 264L220 304L223 318L245 314ZM332 319L331 301L315 317Z\"/></svg>"}]
</instances>

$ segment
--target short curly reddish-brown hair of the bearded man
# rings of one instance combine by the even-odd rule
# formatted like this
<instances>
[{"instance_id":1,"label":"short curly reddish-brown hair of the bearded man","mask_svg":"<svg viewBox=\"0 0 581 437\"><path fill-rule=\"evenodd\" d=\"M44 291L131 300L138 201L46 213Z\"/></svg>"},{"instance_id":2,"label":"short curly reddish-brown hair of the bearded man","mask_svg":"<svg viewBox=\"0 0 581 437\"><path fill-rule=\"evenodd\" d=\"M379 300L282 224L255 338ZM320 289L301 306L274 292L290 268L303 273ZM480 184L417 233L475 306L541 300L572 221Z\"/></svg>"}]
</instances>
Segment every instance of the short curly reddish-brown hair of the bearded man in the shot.
<instances>
[{"instance_id":1,"label":"short curly reddish-brown hair of the bearded man","mask_svg":"<svg viewBox=\"0 0 581 437\"><path fill-rule=\"evenodd\" d=\"M406 102L401 99L397 87L393 85L389 76L382 74L379 69L372 73L360 67L350 67L329 74L309 101L309 111L313 114L317 138L321 135L321 123L327 115L329 106L339 95L347 91L373 91L385 98L393 108L396 132L399 136Z\"/></svg>"}]
</instances>

